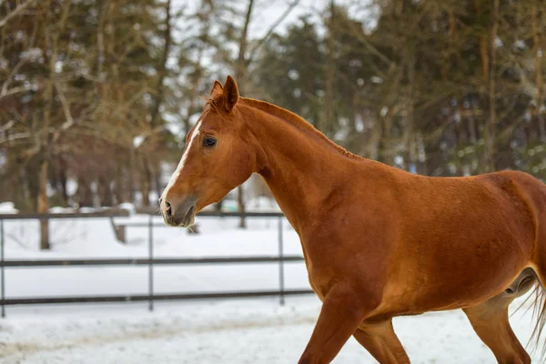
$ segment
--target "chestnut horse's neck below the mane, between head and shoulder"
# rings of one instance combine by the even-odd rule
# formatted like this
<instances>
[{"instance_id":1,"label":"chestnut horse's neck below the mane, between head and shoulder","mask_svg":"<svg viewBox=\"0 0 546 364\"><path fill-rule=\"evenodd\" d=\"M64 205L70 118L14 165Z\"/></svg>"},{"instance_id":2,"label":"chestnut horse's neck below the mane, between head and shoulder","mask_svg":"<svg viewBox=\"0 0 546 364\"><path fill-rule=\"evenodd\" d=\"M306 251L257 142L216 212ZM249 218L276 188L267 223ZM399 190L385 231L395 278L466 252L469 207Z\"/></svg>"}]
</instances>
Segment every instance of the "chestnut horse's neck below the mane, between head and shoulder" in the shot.
<instances>
[{"instance_id":1,"label":"chestnut horse's neck below the mane, between head and shoulder","mask_svg":"<svg viewBox=\"0 0 546 364\"><path fill-rule=\"evenodd\" d=\"M304 227L315 212L328 208L342 170L353 163L314 130L253 108L248 112L252 134L264 156L258 173L293 227Z\"/></svg>"}]
</instances>

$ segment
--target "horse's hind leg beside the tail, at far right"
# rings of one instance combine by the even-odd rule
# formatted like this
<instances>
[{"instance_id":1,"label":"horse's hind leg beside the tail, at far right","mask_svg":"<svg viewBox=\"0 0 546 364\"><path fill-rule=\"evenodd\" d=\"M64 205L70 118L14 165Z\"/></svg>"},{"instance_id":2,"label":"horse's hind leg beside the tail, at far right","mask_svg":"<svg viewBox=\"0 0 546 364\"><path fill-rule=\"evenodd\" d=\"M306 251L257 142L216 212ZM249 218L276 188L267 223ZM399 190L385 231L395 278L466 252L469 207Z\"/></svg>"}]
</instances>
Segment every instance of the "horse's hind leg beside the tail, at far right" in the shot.
<instances>
[{"instance_id":1,"label":"horse's hind leg beside the tail, at far right","mask_svg":"<svg viewBox=\"0 0 546 364\"><path fill-rule=\"evenodd\" d=\"M525 269L501 294L476 306L463 308L474 331L501 364L531 363L529 354L511 329L508 307L511 301L527 292L534 282L531 269Z\"/></svg>"}]
</instances>

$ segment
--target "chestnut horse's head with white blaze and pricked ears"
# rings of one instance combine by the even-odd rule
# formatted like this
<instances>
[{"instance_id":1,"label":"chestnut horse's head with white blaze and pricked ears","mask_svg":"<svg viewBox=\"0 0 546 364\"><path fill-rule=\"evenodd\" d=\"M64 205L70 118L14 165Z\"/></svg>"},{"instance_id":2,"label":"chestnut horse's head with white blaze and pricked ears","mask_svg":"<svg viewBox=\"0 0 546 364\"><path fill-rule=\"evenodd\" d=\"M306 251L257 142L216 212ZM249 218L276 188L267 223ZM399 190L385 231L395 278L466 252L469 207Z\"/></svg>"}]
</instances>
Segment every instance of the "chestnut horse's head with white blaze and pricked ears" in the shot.
<instances>
[{"instance_id":1,"label":"chestnut horse's head with white blaze and pricked ears","mask_svg":"<svg viewBox=\"0 0 546 364\"><path fill-rule=\"evenodd\" d=\"M231 76L215 81L205 110L187 133L184 154L159 204L168 225L188 227L196 213L225 197L255 171L254 137L236 107Z\"/></svg>"}]
</instances>

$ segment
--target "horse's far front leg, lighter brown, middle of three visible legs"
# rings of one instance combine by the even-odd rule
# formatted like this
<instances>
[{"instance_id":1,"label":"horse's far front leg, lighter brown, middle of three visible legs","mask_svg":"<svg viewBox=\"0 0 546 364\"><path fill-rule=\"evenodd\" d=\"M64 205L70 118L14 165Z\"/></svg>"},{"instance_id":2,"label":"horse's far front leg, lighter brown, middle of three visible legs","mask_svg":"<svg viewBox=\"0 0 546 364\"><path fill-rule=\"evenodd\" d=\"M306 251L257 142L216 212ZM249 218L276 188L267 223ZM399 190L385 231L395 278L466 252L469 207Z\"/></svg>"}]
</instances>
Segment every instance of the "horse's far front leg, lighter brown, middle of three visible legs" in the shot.
<instances>
[{"instance_id":1,"label":"horse's far front leg, lighter brown, middle of three visible legs","mask_svg":"<svg viewBox=\"0 0 546 364\"><path fill-rule=\"evenodd\" d=\"M410 363L406 351L394 333L391 320L379 324L362 324L353 336L380 364Z\"/></svg>"}]
</instances>

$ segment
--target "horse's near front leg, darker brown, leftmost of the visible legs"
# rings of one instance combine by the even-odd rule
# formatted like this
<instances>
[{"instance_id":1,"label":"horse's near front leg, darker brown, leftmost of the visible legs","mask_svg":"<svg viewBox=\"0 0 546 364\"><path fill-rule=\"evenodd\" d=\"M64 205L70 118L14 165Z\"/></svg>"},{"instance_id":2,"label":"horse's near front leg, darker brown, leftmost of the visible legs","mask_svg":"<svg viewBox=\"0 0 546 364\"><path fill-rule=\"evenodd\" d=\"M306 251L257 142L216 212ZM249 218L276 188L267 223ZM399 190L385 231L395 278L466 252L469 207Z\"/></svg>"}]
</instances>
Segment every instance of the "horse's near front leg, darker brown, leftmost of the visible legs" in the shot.
<instances>
[{"instance_id":1,"label":"horse's near front leg, darker brown, leftmost of the visible legs","mask_svg":"<svg viewBox=\"0 0 546 364\"><path fill-rule=\"evenodd\" d=\"M313 335L298 364L329 363L378 304L379 299L362 298L346 283L330 288Z\"/></svg>"}]
</instances>

